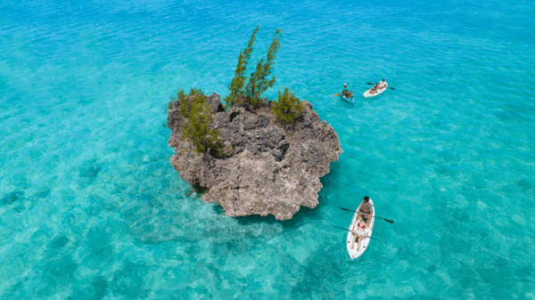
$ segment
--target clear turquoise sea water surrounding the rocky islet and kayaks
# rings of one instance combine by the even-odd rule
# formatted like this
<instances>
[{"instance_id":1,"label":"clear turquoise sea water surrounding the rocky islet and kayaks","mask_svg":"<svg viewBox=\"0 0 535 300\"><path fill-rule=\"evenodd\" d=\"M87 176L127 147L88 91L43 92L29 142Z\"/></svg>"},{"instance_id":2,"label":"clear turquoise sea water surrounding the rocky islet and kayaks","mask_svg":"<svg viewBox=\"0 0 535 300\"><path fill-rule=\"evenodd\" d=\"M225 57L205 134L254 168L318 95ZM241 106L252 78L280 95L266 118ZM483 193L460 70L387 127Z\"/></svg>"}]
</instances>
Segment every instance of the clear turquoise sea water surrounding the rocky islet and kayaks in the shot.
<instances>
[{"instance_id":1,"label":"clear turquoise sea water surrounding the rocky islet and kayaks","mask_svg":"<svg viewBox=\"0 0 535 300\"><path fill-rule=\"evenodd\" d=\"M0 2L0 298L535 298L532 1ZM169 164L164 104L226 94L260 25L338 132L319 205L231 218ZM385 77L382 96L334 98ZM351 261L363 196L377 220Z\"/></svg>"}]
</instances>

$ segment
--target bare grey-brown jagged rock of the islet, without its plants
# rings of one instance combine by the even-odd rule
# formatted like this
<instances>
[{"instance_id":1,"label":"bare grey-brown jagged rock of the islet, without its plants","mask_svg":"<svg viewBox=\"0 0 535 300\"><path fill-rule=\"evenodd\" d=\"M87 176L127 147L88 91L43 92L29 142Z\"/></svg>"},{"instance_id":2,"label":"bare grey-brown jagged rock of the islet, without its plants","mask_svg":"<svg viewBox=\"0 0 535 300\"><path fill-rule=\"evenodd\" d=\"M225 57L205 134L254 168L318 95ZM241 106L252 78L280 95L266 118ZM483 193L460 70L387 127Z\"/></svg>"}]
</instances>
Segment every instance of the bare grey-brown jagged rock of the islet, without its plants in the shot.
<instances>
[{"instance_id":1,"label":"bare grey-brown jagged rock of the islet, without its plants","mask_svg":"<svg viewBox=\"0 0 535 300\"><path fill-rule=\"evenodd\" d=\"M176 150L171 165L186 182L209 189L204 202L218 202L230 216L271 214L277 220L291 219L300 206L317 206L319 177L329 173L342 148L338 134L319 121L309 101L303 101L306 108L293 126L277 122L269 112L271 102L226 112L218 94L208 101L210 127L218 129L226 148L222 156L196 153L182 140L186 120L178 114L178 101L168 111L169 147Z\"/></svg>"}]
</instances>

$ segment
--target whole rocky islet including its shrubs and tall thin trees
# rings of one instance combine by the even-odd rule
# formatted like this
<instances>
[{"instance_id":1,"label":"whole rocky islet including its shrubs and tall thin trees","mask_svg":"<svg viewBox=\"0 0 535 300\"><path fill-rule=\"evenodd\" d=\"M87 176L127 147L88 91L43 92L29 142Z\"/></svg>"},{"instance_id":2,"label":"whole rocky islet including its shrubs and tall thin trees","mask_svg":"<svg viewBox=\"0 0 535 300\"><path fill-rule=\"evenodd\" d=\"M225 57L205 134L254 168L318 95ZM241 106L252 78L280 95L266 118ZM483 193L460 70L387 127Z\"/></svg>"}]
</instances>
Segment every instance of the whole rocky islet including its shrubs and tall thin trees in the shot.
<instances>
[{"instance_id":1,"label":"whole rocky islet including its shrubs and tall thin trees","mask_svg":"<svg viewBox=\"0 0 535 300\"><path fill-rule=\"evenodd\" d=\"M226 215L275 215L291 219L300 206L316 207L319 177L329 173L342 148L338 134L320 122L309 101L285 88L277 101L261 97L275 82L266 78L278 50L276 30L268 58L257 64L245 84L245 69L258 28L240 53L230 93L222 104L217 93L181 91L168 106L171 165L186 182L208 191Z\"/></svg>"}]
</instances>

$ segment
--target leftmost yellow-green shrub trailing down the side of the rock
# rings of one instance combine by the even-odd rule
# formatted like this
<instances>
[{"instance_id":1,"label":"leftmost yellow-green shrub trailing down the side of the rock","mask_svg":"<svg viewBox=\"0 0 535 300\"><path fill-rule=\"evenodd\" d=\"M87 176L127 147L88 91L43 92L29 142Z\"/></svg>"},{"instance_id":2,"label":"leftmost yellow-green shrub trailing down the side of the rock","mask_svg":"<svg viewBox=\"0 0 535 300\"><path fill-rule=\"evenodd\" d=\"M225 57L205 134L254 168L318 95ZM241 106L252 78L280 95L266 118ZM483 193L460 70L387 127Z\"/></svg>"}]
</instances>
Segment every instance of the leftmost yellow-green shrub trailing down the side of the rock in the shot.
<instances>
[{"instance_id":1,"label":"leftmost yellow-green shrub trailing down the side of the rock","mask_svg":"<svg viewBox=\"0 0 535 300\"><path fill-rule=\"evenodd\" d=\"M221 154L223 144L219 140L219 132L209 128L211 113L206 95L201 89L192 88L189 94L178 92L177 99L180 101L179 114L185 118L181 127L182 139L193 142L197 153L210 151L212 154Z\"/></svg>"}]
</instances>

